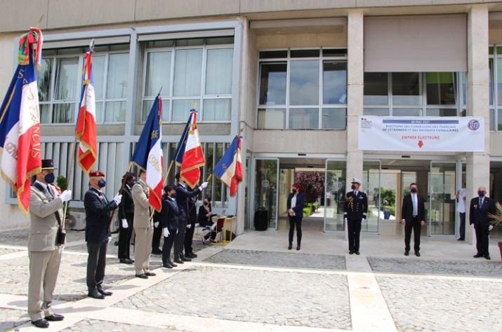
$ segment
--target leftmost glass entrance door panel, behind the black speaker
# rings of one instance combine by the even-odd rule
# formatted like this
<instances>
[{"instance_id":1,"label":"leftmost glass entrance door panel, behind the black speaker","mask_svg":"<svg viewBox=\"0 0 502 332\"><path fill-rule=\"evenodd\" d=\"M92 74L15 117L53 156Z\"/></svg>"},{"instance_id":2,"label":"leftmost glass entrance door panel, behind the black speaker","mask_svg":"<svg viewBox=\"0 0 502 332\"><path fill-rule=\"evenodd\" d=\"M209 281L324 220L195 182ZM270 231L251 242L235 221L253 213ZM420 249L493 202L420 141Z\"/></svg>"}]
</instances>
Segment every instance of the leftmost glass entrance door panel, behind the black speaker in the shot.
<instances>
[{"instance_id":1,"label":"leftmost glass entrance door panel, behind the black speaker","mask_svg":"<svg viewBox=\"0 0 502 332\"><path fill-rule=\"evenodd\" d=\"M268 227L277 230L277 194L279 159L255 159L253 216L258 210L267 212Z\"/></svg>"}]
</instances>

